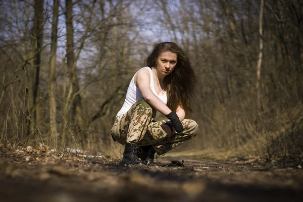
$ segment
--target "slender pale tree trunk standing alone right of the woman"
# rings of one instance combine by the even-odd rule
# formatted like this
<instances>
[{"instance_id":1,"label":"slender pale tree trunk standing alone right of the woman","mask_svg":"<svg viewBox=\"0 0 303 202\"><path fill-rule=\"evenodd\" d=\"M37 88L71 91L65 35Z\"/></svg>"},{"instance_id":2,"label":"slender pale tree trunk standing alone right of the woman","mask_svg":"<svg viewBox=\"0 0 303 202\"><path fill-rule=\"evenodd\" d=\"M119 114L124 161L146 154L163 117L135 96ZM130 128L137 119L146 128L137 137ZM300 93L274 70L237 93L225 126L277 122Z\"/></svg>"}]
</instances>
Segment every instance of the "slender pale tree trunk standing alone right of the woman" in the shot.
<instances>
[{"instance_id":1,"label":"slender pale tree trunk standing alone right of the woman","mask_svg":"<svg viewBox=\"0 0 303 202\"><path fill-rule=\"evenodd\" d=\"M259 58L257 63L257 83L256 83L256 89L257 89L257 108L258 110L261 109L261 65L262 65L262 56L263 56L263 10L264 10L264 0L261 0L261 6L260 6L260 15L259 15L259 37L260 37L260 52L259 52Z\"/></svg>"}]
</instances>

